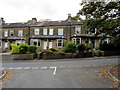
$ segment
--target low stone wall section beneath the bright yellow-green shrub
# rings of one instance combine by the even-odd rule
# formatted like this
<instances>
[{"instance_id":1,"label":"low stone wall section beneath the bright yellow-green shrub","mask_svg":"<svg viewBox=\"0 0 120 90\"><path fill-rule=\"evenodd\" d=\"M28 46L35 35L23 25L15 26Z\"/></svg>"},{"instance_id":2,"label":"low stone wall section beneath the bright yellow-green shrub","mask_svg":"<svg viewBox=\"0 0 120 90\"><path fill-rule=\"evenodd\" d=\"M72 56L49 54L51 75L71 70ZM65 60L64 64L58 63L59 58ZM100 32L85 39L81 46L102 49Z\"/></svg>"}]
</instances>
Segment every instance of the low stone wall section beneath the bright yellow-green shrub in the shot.
<instances>
[{"instance_id":1,"label":"low stone wall section beneath the bright yellow-green shrub","mask_svg":"<svg viewBox=\"0 0 120 90\"><path fill-rule=\"evenodd\" d=\"M12 55L13 60L33 60L34 54L14 54Z\"/></svg>"}]
</instances>

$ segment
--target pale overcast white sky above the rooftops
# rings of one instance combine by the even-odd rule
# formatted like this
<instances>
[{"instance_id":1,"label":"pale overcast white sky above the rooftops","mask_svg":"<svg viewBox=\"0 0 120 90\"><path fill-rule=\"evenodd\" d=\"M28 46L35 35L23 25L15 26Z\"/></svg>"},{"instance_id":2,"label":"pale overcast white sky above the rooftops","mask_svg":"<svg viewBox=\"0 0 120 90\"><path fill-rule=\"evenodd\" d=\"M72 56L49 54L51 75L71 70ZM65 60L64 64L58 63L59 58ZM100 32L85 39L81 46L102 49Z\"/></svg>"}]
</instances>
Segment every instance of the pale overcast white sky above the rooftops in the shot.
<instances>
[{"instance_id":1,"label":"pale overcast white sky above the rooftops","mask_svg":"<svg viewBox=\"0 0 120 90\"><path fill-rule=\"evenodd\" d=\"M81 0L0 0L0 17L6 23L26 22L32 18L65 20L75 16Z\"/></svg>"}]
</instances>

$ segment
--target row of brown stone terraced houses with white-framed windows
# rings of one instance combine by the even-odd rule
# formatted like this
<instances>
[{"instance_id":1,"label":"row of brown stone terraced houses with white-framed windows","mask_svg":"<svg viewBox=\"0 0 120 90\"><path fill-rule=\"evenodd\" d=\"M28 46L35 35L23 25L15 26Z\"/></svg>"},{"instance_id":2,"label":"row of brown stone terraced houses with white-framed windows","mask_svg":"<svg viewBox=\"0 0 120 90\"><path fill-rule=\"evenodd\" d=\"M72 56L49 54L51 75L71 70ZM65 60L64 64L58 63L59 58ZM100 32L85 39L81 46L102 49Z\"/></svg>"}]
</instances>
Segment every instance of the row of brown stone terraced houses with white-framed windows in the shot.
<instances>
[{"instance_id":1,"label":"row of brown stone terraced houses with white-framed windows","mask_svg":"<svg viewBox=\"0 0 120 90\"><path fill-rule=\"evenodd\" d=\"M0 52L10 51L10 44L27 43L36 45L41 51L56 48L61 49L66 41L73 41L76 44L88 41L93 48L98 48L102 35L95 36L95 33L86 33L82 26L82 20L64 21L42 21L5 23L0 19Z\"/></svg>"}]
</instances>

